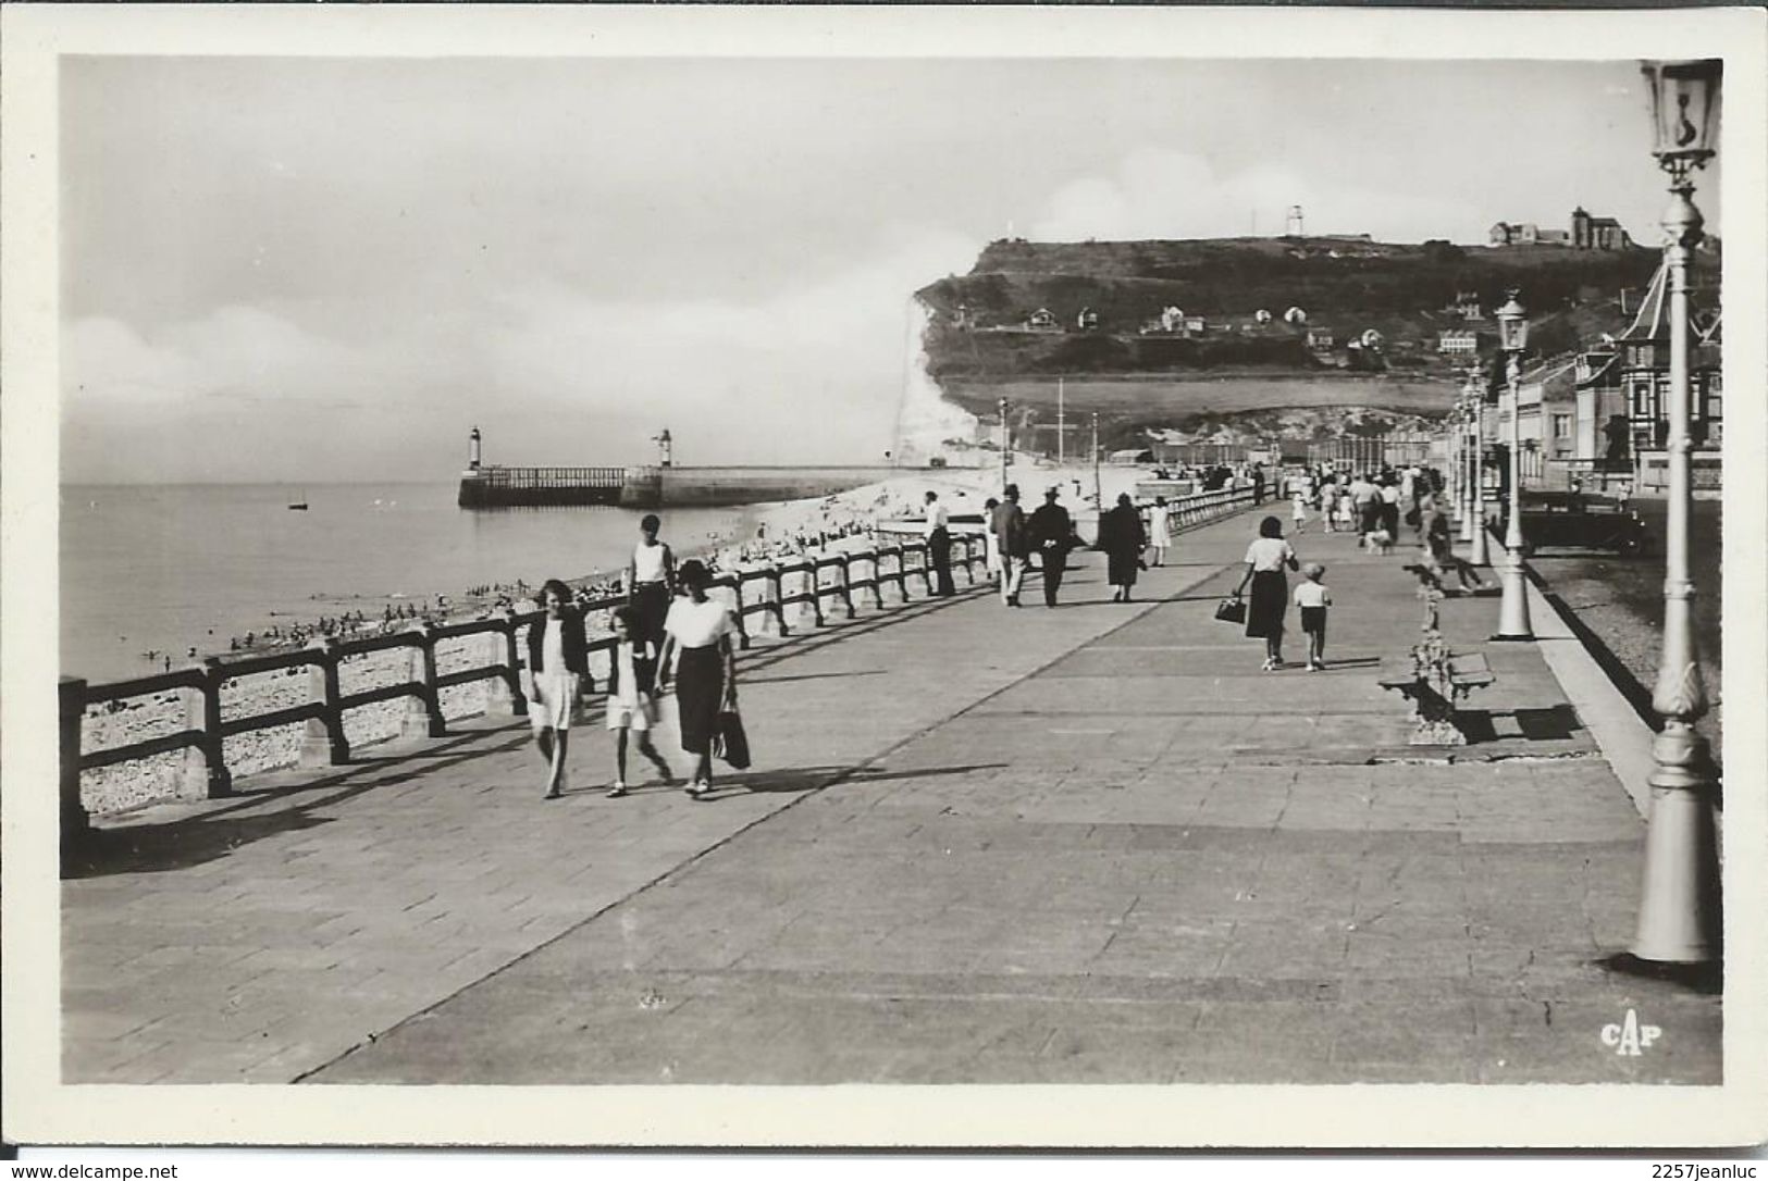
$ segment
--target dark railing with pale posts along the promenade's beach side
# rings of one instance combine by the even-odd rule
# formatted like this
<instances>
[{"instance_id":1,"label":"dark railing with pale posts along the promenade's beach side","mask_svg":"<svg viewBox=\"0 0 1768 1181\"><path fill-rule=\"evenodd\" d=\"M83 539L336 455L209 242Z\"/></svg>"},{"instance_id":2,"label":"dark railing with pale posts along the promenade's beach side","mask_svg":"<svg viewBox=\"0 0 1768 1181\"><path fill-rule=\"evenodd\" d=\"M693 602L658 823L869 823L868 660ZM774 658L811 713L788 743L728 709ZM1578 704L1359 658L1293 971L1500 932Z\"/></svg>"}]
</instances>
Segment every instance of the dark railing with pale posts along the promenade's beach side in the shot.
<instances>
[{"instance_id":1,"label":"dark railing with pale posts along the promenade's beach side","mask_svg":"<svg viewBox=\"0 0 1768 1181\"><path fill-rule=\"evenodd\" d=\"M1250 488L1223 488L1169 502L1172 532L1192 529L1252 504ZM1144 509L1147 506L1142 506ZM983 532L951 532L951 568L964 571L967 585L976 583L976 566L985 562ZM857 576L863 575L863 576ZM921 592L934 592L934 566L926 541L903 541L842 553L804 555L785 562L750 566L718 576L711 589L725 592L737 622L739 647L748 649L757 633L787 636L808 615L812 626L826 626L831 610L845 619L857 613L856 599L870 598L875 610L886 610L886 592L896 603L909 603L909 583L919 580ZM758 594L748 594L758 587ZM598 612L624 605L621 596L582 603L582 610ZM826 606L829 603L829 606ZM797 610L792 610L797 608ZM458 624L414 624L408 631L364 640L315 640L304 649L248 656L244 659L205 658L189 668L179 668L149 677L88 684L80 677L60 681L60 804L64 836L87 827L88 815L80 796L80 776L85 771L122 762L184 751L177 774L177 794L182 799L212 799L233 790L233 774L226 766L225 741L255 730L285 725L304 725L297 766L332 767L350 762L350 741L345 737L345 714L352 709L392 702L407 702L400 737L442 737L447 732L442 716L440 691L453 686L488 681L484 714L493 718L527 716L527 697L522 691L522 651L518 633L541 621L545 612L502 610L490 619ZM751 617L758 617L751 624ZM483 636L486 645L483 663L447 674L437 672L437 644ZM613 636L591 640L591 652L606 652ZM408 677L377 684L354 693L339 690L338 670L343 661L405 649ZM308 700L299 705L265 712L225 716L223 688L242 677L308 670ZM184 695L184 727L147 739L83 750L81 723L94 705L110 705L157 693Z\"/></svg>"}]
</instances>

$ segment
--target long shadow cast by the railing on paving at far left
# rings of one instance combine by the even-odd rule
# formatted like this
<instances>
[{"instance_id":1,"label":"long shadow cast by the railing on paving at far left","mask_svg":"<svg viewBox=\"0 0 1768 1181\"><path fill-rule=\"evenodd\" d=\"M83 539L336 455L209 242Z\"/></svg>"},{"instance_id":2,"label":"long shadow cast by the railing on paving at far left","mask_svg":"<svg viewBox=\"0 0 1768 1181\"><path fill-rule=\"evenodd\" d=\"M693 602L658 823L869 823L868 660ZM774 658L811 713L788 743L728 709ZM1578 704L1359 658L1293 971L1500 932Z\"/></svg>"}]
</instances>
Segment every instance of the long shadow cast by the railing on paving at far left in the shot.
<instances>
[{"instance_id":1,"label":"long shadow cast by the railing on paving at far left","mask_svg":"<svg viewBox=\"0 0 1768 1181\"><path fill-rule=\"evenodd\" d=\"M500 737L484 746L479 739ZM350 767L320 780L269 787L242 794L235 803L202 815L180 817L161 824L126 824L94 827L62 852L62 879L78 880L108 877L111 873L163 873L187 870L216 857L225 857L242 845L265 836L301 833L331 819L313 815L325 808L355 799L377 789L396 787L421 780L433 771L520 748L527 735L507 735L502 730L461 734L444 748L378 755L361 758ZM327 792L313 797L313 792ZM288 806L278 808L288 797ZM269 808L269 811L265 811ZM251 811L251 815L240 815Z\"/></svg>"}]
</instances>

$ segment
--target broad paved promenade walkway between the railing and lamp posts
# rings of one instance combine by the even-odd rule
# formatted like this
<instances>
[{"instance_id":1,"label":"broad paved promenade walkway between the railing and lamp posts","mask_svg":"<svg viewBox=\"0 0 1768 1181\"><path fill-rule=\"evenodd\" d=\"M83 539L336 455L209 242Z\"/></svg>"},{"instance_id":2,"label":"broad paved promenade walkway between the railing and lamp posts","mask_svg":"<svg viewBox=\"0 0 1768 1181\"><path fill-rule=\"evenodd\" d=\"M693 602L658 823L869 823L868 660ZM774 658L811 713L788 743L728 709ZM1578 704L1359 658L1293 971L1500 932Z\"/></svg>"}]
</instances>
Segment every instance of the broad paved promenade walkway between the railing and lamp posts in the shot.
<instances>
[{"instance_id":1,"label":"broad paved promenade walkway between the railing and lamp posts","mask_svg":"<svg viewBox=\"0 0 1768 1181\"><path fill-rule=\"evenodd\" d=\"M1057 610L766 642L758 767L704 803L605 799L599 732L541 803L488 727L111 822L64 884L64 1075L1717 1082L1718 999L1600 965L1642 824L1536 647L1448 601L1487 741L1407 748L1407 559L1299 537L1333 668L1261 674L1211 619L1252 520L1128 606L1080 553ZM1600 1040L1628 1008L1641 1057Z\"/></svg>"}]
</instances>

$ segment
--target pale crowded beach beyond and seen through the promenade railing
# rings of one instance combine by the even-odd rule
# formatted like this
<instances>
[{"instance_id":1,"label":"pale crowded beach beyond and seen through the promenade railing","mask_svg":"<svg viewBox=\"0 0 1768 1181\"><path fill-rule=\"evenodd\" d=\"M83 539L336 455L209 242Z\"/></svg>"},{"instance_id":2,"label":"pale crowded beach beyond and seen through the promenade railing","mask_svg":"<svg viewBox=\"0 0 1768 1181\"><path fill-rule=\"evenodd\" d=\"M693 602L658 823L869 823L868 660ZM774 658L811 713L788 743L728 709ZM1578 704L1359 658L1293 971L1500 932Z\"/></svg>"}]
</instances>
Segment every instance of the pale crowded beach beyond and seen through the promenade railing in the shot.
<instances>
[{"instance_id":1,"label":"pale crowded beach beyond and seen through the promenade railing","mask_svg":"<svg viewBox=\"0 0 1768 1181\"><path fill-rule=\"evenodd\" d=\"M1061 488L1061 502L1075 514L1082 536L1091 534L1094 509L1087 497L1093 491L1094 472L1091 467L1033 461L1029 456L1015 456L1008 469L1008 477L1017 483L1027 506L1041 502L1045 488ZM1133 491L1137 479L1146 477L1144 469L1103 467L1098 472L1100 490L1109 502L1119 491ZM983 502L999 495L1001 469L916 469L903 470L902 476L852 488L849 491L808 500L785 500L751 506L737 527L735 534L713 541L672 543L677 557L700 557L714 569L732 571L769 562L789 560L801 553L833 553L840 550L863 550L880 541L889 543L889 534L921 518L925 493L937 491L941 502L951 513L956 529L964 529L965 518L979 518ZM891 530L889 525L896 525ZM665 541L672 541L668 536ZM583 598L608 598L615 592L619 571L589 571L569 580ZM483 590L479 594L461 594L446 603L424 603L426 612L414 606L414 613L430 622L460 622L484 619L502 605L516 610L530 610L529 590L518 590L516 583L507 583ZM414 626L417 619L368 621L352 635L370 636L382 631L400 631ZM606 629L606 612L592 612L589 617L592 638ZM348 636L347 636L348 638ZM488 663L493 654L490 636L465 636L437 645L437 672L447 674L458 668ZM286 651L297 644L279 647L255 647L255 654ZM223 652L223 658L228 654ZM391 681L408 677L405 651L370 652L350 658L339 668L339 688L343 693L359 691ZM592 658L592 670L605 675ZM486 682L456 686L442 691L442 714L446 718L470 718L484 712ZM308 670L288 668L279 672L239 677L226 684L223 693L223 716L235 718L260 714L274 709L299 705L308 700ZM115 712L88 709L81 727L83 750L104 750L127 743L143 741L159 734L179 730L184 721L184 698L179 691L157 693L150 697L118 702ZM370 746L394 737L400 732L407 704L380 702L354 709L345 718L345 734L352 750ZM271 730L255 730L226 741L226 762L235 776L246 776L276 767L293 766L301 746L302 727L288 725ZM182 753L156 755L152 758L133 760L113 767L88 771L81 776L81 797L95 815L124 811L141 804L166 799L177 792L177 776L184 764Z\"/></svg>"}]
</instances>

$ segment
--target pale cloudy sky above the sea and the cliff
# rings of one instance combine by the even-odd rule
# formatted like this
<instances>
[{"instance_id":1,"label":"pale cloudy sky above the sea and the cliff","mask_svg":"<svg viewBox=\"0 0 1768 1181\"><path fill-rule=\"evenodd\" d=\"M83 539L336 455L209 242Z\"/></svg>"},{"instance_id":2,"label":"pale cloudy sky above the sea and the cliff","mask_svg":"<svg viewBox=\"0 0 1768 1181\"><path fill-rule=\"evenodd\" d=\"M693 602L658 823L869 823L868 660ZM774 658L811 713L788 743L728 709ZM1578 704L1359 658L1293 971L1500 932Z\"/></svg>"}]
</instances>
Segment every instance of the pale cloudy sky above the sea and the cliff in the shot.
<instances>
[{"instance_id":1,"label":"pale cloudy sky above the sea and the cliff","mask_svg":"<svg viewBox=\"0 0 1768 1181\"><path fill-rule=\"evenodd\" d=\"M1008 233L1664 207L1632 60L87 57L60 134L65 483L880 461Z\"/></svg>"}]
</instances>

